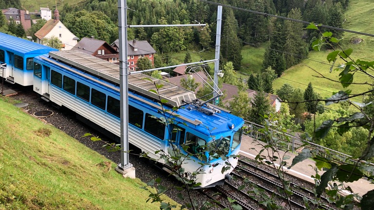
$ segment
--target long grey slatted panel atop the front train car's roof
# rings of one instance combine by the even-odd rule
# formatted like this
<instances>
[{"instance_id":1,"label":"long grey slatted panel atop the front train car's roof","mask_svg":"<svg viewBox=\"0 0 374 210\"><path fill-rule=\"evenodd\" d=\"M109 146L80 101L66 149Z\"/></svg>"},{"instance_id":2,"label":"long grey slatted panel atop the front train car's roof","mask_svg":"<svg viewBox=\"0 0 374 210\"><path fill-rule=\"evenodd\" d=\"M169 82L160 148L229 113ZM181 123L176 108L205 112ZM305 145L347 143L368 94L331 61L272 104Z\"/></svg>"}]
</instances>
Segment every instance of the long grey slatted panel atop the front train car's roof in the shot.
<instances>
[{"instance_id":1,"label":"long grey slatted panel atop the front train car's roof","mask_svg":"<svg viewBox=\"0 0 374 210\"><path fill-rule=\"evenodd\" d=\"M90 72L95 76L119 85L120 75L119 66L117 64L113 64L106 60L76 50L50 52L49 55L59 61L68 63L78 69ZM191 103L196 99L196 95L192 91L178 87L171 83L167 83L160 79L147 76L145 74L133 74L129 76L128 79L129 89L156 100L158 100L160 96L161 99L167 100L168 104L172 106L179 107L181 105ZM163 87L159 88L158 90L159 95L150 91L150 89L156 88L154 83L163 84Z\"/></svg>"}]
</instances>

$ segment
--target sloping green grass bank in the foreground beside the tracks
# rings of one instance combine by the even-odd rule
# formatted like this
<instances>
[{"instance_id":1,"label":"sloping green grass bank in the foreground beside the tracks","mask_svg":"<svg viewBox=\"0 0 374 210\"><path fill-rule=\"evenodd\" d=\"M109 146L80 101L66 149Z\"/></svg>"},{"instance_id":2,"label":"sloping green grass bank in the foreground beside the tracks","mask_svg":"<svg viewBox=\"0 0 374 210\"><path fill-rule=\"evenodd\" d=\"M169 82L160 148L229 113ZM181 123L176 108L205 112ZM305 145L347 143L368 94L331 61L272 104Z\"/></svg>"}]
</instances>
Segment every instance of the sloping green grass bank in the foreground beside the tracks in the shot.
<instances>
[{"instance_id":1,"label":"sloping green grass bank in the foreground beside the tracks","mask_svg":"<svg viewBox=\"0 0 374 210\"><path fill-rule=\"evenodd\" d=\"M156 210L139 179L0 98L0 210ZM167 202L174 203L169 198Z\"/></svg>"}]
</instances>

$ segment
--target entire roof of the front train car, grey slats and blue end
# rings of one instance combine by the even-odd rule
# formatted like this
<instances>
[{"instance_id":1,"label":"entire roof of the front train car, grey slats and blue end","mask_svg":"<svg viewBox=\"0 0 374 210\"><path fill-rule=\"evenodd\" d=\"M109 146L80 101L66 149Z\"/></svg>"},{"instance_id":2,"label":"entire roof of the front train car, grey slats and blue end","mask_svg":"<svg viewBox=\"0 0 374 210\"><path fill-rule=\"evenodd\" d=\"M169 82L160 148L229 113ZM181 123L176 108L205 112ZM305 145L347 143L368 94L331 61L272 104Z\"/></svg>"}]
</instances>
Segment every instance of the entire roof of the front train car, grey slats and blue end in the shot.
<instances>
[{"instance_id":1,"label":"entire roof of the front train car, grey slats and blue end","mask_svg":"<svg viewBox=\"0 0 374 210\"><path fill-rule=\"evenodd\" d=\"M118 65L75 50L50 52L49 55L49 57L41 56L40 58L46 61L56 59L60 62L60 65L65 66L67 70L73 70L73 72L79 70L82 74L91 77L93 81L99 79L97 82L100 82L102 85L105 85L103 82L106 81L108 86L105 86L112 88L114 91L119 91ZM145 80L145 77L150 80ZM160 110L162 107L157 103L157 101L159 101L158 95L150 91L150 89L156 89L154 82L164 85L159 89L159 94L162 99L167 99L169 103L170 100L174 100L172 102L175 104L174 106L180 107L174 111L174 114L176 114L175 118L180 118L191 123L195 126L196 130L205 135L214 136L216 133L227 130L227 126L231 126L230 123L235 126L243 125L243 119L230 114L224 109L220 108L222 110L221 113L207 114L206 112L198 110L196 106L193 105L194 103L186 104L185 102L188 100L182 98L188 96L189 100L194 100L196 98L195 93L141 73L129 75L129 90L135 90L129 92L129 100L142 106L148 106L154 110ZM171 114L171 111L167 112Z\"/></svg>"}]
</instances>

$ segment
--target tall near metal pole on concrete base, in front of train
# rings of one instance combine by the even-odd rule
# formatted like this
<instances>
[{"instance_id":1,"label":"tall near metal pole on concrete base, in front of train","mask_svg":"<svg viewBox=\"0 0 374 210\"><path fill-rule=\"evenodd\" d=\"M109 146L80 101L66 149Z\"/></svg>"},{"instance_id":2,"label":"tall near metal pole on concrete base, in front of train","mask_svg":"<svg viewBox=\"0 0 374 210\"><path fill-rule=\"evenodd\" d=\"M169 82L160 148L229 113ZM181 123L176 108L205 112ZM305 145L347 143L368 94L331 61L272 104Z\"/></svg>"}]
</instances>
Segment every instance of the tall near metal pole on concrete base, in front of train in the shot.
<instances>
[{"instance_id":1,"label":"tall near metal pole on concrete base, in front of train","mask_svg":"<svg viewBox=\"0 0 374 210\"><path fill-rule=\"evenodd\" d=\"M120 117L121 117L121 162L120 170L131 168L129 163L129 92L127 64L127 2L118 0L118 38L119 38L119 81L120 81Z\"/></svg>"}]
</instances>

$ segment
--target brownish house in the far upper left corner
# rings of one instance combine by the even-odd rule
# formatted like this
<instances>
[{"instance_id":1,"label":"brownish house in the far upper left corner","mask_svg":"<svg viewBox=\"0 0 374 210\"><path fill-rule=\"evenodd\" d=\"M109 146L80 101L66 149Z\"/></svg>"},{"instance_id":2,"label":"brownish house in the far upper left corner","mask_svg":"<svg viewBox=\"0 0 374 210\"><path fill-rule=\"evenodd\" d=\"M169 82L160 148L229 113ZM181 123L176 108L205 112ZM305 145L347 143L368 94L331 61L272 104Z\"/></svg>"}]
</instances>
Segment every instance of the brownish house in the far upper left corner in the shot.
<instances>
[{"instance_id":1,"label":"brownish house in the far upper left corner","mask_svg":"<svg viewBox=\"0 0 374 210\"><path fill-rule=\"evenodd\" d=\"M8 22L13 19L16 24L22 24L25 31L31 28L31 18L28 11L11 7L1 10L1 12L5 15L5 18L8 20Z\"/></svg>"}]
</instances>

